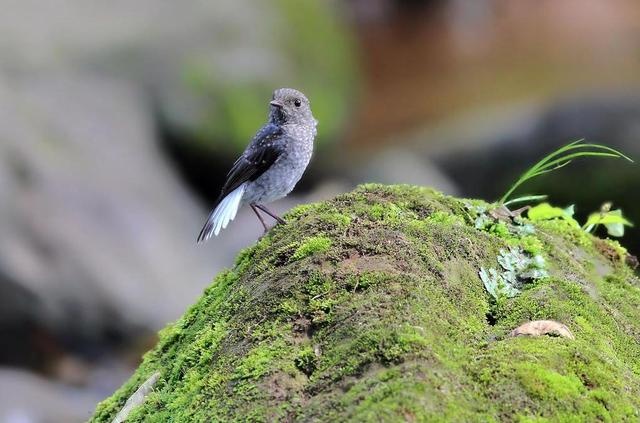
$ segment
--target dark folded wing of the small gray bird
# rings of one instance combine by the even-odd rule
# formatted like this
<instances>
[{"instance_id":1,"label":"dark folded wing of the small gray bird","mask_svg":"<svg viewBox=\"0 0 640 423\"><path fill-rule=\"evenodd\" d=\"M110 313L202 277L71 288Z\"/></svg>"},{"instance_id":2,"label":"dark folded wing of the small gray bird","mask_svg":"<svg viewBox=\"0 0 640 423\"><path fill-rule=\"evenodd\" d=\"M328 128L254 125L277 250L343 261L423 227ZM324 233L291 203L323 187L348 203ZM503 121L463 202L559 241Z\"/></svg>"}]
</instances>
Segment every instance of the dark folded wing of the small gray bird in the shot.
<instances>
[{"instance_id":1,"label":"dark folded wing of the small gray bird","mask_svg":"<svg viewBox=\"0 0 640 423\"><path fill-rule=\"evenodd\" d=\"M255 181L280 157L283 146L279 141L282 128L266 125L253 138L242 156L236 160L227 174L220 199L245 182Z\"/></svg>"}]
</instances>

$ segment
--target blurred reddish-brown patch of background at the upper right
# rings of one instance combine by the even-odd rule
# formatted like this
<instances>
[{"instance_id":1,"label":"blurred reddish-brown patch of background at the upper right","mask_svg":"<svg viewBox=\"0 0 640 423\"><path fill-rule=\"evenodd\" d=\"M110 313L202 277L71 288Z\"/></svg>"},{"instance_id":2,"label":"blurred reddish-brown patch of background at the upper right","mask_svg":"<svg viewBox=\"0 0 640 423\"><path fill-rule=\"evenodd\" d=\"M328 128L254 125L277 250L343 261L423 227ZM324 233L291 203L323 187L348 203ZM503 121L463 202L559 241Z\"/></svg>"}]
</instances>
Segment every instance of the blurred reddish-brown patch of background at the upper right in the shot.
<instances>
[{"instance_id":1,"label":"blurred reddish-brown patch of background at the upper right","mask_svg":"<svg viewBox=\"0 0 640 423\"><path fill-rule=\"evenodd\" d=\"M350 0L362 107L349 141L497 104L640 84L636 0Z\"/></svg>"}]
</instances>

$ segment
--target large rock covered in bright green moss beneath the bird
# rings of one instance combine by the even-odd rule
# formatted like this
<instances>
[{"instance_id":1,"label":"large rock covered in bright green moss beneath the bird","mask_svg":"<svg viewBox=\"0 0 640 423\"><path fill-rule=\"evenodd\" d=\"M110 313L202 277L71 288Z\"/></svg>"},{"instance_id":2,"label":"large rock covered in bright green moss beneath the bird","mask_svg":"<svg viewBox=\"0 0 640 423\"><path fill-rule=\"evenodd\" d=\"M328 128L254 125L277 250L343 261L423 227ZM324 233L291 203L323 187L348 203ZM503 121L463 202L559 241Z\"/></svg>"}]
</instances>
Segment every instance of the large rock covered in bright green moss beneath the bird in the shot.
<instances>
[{"instance_id":1,"label":"large rock covered in bright green moss beneath the bird","mask_svg":"<svg viewBox=\"0 0 640 423\"><path fill-rule=\"evenodd\" d=\"M638 421L640 282L624 249L536 224L523 249L549 276L496 301L478 271L520 238L476 229L468 204L483 203L366 185L294 209L93 421L155 373L128 422ZM539 319L575 339L509 336Z\"/></svg>"}]
</instances>

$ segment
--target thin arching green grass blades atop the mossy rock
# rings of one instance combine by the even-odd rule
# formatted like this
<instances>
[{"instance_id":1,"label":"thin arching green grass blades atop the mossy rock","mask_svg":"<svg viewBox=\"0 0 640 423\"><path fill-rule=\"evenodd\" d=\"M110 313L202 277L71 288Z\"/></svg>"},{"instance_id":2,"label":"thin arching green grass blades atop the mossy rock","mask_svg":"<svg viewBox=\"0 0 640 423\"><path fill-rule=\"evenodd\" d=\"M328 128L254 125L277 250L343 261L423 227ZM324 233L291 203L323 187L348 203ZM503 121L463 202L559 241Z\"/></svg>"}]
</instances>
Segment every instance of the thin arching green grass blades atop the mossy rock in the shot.
<instances>
[{"instance_id":1,"label":"thin arching green grass blades atop the mossy rock","mask_svg":"<svg viewBox=\"0 0 640 423\"><path fill-rule=\"evenodd\" d=\"M525 197L515 198L510 201L509 197L511 194L515 192L520 185L527 182L529 179L533 179L536 176L544 175L545 173L552 172L554 170L558 170L569 163L573 159L577 159L579 157L587 157L587 156L596 156L596 157L612 157L612 158L622 158L633 163L629 157L625 156L618 150L615 150L611 147L607 147L599 144L583 144L584 139L580 139L565 145L564 147L560 147L554 152L547 154L542 158L538 163L531 166L526 172L524 172L518 180L511 185L509 190L500 198L500 203L504 205L513 204L516 202L524 202L524 201L533 201L540 200L545 198L540 195L528 195Z\"/></svg>"}]
</instances>

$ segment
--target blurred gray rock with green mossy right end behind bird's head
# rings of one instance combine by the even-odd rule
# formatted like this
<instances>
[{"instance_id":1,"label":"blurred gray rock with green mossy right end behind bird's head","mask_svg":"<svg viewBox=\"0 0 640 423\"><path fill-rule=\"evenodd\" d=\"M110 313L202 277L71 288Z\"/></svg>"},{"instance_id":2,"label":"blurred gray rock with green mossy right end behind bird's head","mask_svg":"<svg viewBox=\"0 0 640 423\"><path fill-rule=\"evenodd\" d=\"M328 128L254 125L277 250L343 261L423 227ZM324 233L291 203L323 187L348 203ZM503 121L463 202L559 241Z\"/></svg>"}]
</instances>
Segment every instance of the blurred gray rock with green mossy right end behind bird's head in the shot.
<instances>
[{"instance_id":1,"label":"blurred gray rock with green mossy right end behind bird's head","mask_svg":"<svg viewBox=\"0 0 640 423\"><path fill-rule=\"evenodd\" d=\"M177 131L237 152L278 86L313 99L322 136L353 90L349 38L321 0L0 0L0 70L132 81Z\"/></svg>"}]
</instances>

